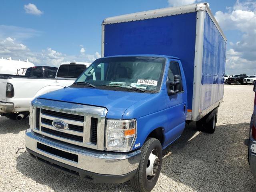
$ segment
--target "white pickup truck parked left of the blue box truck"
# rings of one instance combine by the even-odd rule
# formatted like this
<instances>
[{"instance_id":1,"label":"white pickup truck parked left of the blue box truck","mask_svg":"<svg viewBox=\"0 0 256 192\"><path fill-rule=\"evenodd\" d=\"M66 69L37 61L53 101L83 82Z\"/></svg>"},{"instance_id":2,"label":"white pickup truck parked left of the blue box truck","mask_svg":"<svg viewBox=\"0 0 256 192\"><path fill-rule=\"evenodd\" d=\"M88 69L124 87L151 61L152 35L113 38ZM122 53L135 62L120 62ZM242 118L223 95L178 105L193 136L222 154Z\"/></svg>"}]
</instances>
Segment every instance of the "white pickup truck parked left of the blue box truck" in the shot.
<instances>
[{"instance_id":1,"label":"white pickup truck parked left of the blue box truck","mask_svg":"<svg viewBox=\"0 0 256 192\"><path fill-rule=\"evenodd\" d=\"M55 78L0 74L0 115L22 120L39 95L70 86L90 63L62 63Z\"/></svg>"}]
</instances>

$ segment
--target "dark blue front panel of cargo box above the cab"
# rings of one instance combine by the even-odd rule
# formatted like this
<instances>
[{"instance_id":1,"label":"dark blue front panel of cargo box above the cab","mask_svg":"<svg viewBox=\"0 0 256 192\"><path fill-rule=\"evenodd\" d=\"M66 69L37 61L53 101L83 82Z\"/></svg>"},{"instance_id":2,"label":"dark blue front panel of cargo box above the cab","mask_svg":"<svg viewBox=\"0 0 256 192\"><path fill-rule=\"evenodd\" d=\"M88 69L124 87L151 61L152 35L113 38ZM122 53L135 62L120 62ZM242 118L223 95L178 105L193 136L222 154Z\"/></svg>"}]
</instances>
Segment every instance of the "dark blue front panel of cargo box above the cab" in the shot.
<instances>
[{"instance_id":1,"label":"dark blue front panel of cargo box above the cab","mask_svg":"<svg viewBox=\"0 0 256 192\"><path fill-rule=\"evenodd\" d=\"M160 54L181 59L192 109L196 12L104 25L104 56Z\"/></svg>"}]
</instances>

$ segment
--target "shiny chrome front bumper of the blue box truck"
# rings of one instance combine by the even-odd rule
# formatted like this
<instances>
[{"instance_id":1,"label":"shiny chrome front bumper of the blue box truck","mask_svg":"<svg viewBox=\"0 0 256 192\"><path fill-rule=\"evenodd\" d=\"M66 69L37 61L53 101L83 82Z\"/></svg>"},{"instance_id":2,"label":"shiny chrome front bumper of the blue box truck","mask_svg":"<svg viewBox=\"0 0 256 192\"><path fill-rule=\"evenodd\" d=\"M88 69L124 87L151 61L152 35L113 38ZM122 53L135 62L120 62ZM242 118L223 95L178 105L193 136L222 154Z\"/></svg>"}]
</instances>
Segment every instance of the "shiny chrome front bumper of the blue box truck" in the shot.
<instances>
[{"instance_id":1,"label":"shiny chrome front bumper of the blue box truck","mask_svg":"<svg viewBox=\"0 0 256 192\"><path fill-rule=\"evenodd\" d=\"M51 154L38 149L38 143L60 150L60 152L62 151L75 154L78 156L78 161L75 162L66 159L63 156L60 157L56 154ZM53 163L56 162L57 165L60 163L73 168L78 168L79 170L85 170L90 173L103 174L106 176L124 176L129 173L133 173L134 175L141 157L140 150L130 153L92 150L46 138L32 132L31 129L26 130L26 148L28 149L28 152L34 156L38 155L47 158L47 162L50 161L51 163L52 160Z\"/></svg>"}]
</instances>

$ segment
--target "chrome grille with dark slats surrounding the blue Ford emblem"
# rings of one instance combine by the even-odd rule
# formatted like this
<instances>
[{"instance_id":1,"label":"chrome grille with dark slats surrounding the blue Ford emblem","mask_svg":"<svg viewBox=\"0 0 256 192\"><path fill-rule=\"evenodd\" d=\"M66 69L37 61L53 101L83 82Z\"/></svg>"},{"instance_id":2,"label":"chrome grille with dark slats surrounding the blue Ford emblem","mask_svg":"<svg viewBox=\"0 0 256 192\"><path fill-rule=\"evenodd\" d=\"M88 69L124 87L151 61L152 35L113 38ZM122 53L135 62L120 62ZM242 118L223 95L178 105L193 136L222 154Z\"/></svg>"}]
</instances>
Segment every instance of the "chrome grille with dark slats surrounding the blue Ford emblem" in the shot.
<instances>
[{"instance_id":1,"label":"chrome grille with dark slats surrounding the blue Ford emblem","mask_svg":"<svg viewBox=\"0 0 256 192\"><path fill-rule=\"evenodd\" d=\"M105 108L37 99L34 102L33 130L62 142L104 150L106 112ZM67 124L66 129L55 128L52 125L54 120Z\"/></svg>"}]
</instances>

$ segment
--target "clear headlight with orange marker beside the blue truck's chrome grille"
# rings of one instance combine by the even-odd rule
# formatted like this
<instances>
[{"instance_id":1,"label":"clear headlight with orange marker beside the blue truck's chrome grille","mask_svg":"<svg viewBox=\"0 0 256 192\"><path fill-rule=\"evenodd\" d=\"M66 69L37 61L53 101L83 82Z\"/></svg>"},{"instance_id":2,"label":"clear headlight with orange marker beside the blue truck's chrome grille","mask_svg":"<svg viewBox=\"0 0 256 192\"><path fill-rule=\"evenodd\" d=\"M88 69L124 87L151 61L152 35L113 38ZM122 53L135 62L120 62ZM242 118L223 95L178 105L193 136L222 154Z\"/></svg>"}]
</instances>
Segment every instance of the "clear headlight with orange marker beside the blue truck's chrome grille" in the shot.
<instances>
[{"instance_id":1,"label":"clear headlight with orange marker beside the blue truck's chrome grille","mask_svg":"<svg viewBox=\"0 0 256 192\"><path fill-rule=\"evenodd\" d=\"M130 151L136 137L136 120L107 120L106 150Z\"/></svg>"}]
</instances>

